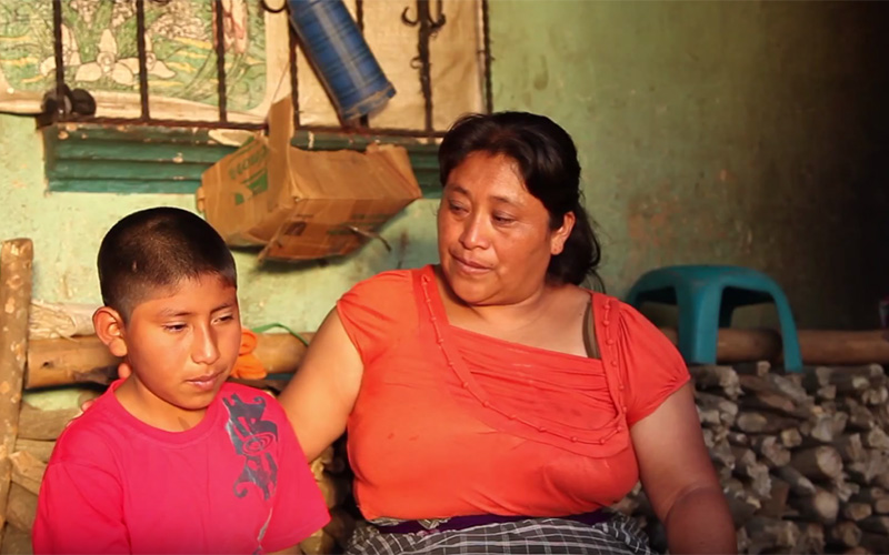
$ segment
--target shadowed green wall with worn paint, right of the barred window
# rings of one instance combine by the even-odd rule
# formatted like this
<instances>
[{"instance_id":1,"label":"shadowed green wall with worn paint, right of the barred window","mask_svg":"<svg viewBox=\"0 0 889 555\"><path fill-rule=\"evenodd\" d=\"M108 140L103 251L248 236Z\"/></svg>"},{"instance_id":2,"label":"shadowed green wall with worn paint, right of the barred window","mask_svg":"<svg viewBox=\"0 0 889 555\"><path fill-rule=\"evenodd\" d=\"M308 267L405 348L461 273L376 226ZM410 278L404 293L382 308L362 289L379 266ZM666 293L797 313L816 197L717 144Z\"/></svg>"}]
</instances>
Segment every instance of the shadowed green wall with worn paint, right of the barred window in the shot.
<instances>
[{"instance_id":1,"label":"shadowed green wall with worn paint, right of the barred window","mask_svg":"<svg viewBox=\"0 0 889 555\"><path fill-rule=\"evenodd\" d=\"M886 2L493 0L496 107L577 140L610 292L665 264L746 264L806 326L872 326L887 20Z\"/></svg>"}]
</instances>

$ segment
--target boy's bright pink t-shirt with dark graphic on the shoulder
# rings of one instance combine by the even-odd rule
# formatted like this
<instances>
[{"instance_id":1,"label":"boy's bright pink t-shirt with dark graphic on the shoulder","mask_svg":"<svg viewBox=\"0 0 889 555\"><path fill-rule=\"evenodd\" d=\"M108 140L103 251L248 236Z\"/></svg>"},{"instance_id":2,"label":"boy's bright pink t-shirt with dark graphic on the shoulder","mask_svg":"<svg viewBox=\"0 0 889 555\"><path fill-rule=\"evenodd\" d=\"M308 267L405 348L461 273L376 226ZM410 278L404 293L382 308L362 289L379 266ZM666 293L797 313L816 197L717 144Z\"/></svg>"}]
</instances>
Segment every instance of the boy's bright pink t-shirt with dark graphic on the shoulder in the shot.
<instances>
[{"instance_id":1,"label":"boy's bright pink t-shirt with dark graphic on the shoulder","mask_svg":"<svg viewBox=\"0 0 889 555\"><path fill-rule=\"evenodd\" d=\"M34 553L268 553L329 521L278 402L227 383L204 418L166 432L128 413L116 382L59 437Z\"/></svg>"}]
</instances>

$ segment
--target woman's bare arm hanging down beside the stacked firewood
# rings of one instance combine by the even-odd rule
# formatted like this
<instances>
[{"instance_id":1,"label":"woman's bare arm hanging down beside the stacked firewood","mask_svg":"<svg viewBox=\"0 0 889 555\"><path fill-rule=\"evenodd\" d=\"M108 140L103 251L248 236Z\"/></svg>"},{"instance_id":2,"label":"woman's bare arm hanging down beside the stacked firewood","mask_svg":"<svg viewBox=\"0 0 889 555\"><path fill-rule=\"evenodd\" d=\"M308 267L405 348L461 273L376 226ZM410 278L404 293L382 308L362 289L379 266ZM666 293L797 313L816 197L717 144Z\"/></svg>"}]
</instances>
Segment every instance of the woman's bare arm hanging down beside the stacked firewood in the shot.
<instances>
[{"instance_id":1,"label":"woman's bare arm hanging down beside the stacked firewood","mask_svg":"<svg viewBox=\"0 0 889 555\"><path fill-rule=\"evenodd\" d=\"M630 430L642 487L670 553L737 553L735 524L703 444L692 385Z\"/></svg>"}]
</instances>

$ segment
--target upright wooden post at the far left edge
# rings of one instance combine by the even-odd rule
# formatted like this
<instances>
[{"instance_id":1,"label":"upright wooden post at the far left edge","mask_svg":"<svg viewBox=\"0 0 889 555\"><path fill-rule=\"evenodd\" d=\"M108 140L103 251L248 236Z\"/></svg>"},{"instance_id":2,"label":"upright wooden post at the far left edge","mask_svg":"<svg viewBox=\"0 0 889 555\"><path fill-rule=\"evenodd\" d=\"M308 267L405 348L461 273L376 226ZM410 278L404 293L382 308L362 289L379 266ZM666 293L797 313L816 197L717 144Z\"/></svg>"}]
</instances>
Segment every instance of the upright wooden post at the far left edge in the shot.
<instances>
[{"instance_id":1,"label":"upright wooden post at the far left edge","mask_svg":"<svg viewBox=\"0 0 889 555\"><path fill-rule=\"evenodd\" d=\"M19 411L26 354L28 312L31 306L33 243L30 239L0 245L0 543L11 507L12 461L19 435Z\"/></svg>"}]
</instances>

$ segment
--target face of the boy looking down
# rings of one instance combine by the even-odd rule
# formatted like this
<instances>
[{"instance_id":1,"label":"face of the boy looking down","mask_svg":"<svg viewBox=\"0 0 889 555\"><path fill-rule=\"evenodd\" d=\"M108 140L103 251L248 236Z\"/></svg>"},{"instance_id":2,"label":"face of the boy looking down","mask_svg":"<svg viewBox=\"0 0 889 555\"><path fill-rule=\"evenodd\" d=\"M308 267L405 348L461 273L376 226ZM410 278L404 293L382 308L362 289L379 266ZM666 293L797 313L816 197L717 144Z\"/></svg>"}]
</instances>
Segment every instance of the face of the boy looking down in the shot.
<instances>
[{"instance_id":1,"label":"face of the boy looking down","mask_svg":"<svg viewBox=\"0 0 889 555\"><path fill-rule=\"evenodd\" d=\"M139 408L161 420L191 421L196 411L202 415L238 359L237 290L211 274L159 290L132 310L122 339Z\"/></svg>"}]
</instances>

